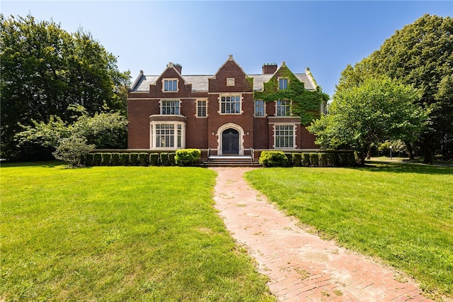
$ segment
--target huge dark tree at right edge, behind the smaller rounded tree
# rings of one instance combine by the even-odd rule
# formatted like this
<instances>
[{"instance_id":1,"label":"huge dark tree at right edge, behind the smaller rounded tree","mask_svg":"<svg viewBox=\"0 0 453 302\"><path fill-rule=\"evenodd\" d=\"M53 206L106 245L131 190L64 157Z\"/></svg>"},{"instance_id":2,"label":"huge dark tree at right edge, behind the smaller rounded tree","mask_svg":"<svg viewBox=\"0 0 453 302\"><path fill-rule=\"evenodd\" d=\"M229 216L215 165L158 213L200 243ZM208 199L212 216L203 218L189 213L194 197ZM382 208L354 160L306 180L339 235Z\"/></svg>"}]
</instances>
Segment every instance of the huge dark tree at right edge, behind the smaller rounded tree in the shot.
<instances>
[{"instance_id":1,"label":"huge dark tree at right edge, behind the smaller rounded tree","mask_svg":"<svg viewBox=\"0 0 453 302\"><path fill-rule=\"evenodd\" d=\"M367 77L385 74L422 93L418 105L428 111L428 127L418 142L425 163L432 163L435 149L445 138L452 140L453 98L448 85L453 73L453 18L425 15L404 26L379 50L342 72L337 90L357 86ZM452 152L452 150L449 150Z\"/></svg>"}]
</instances>

